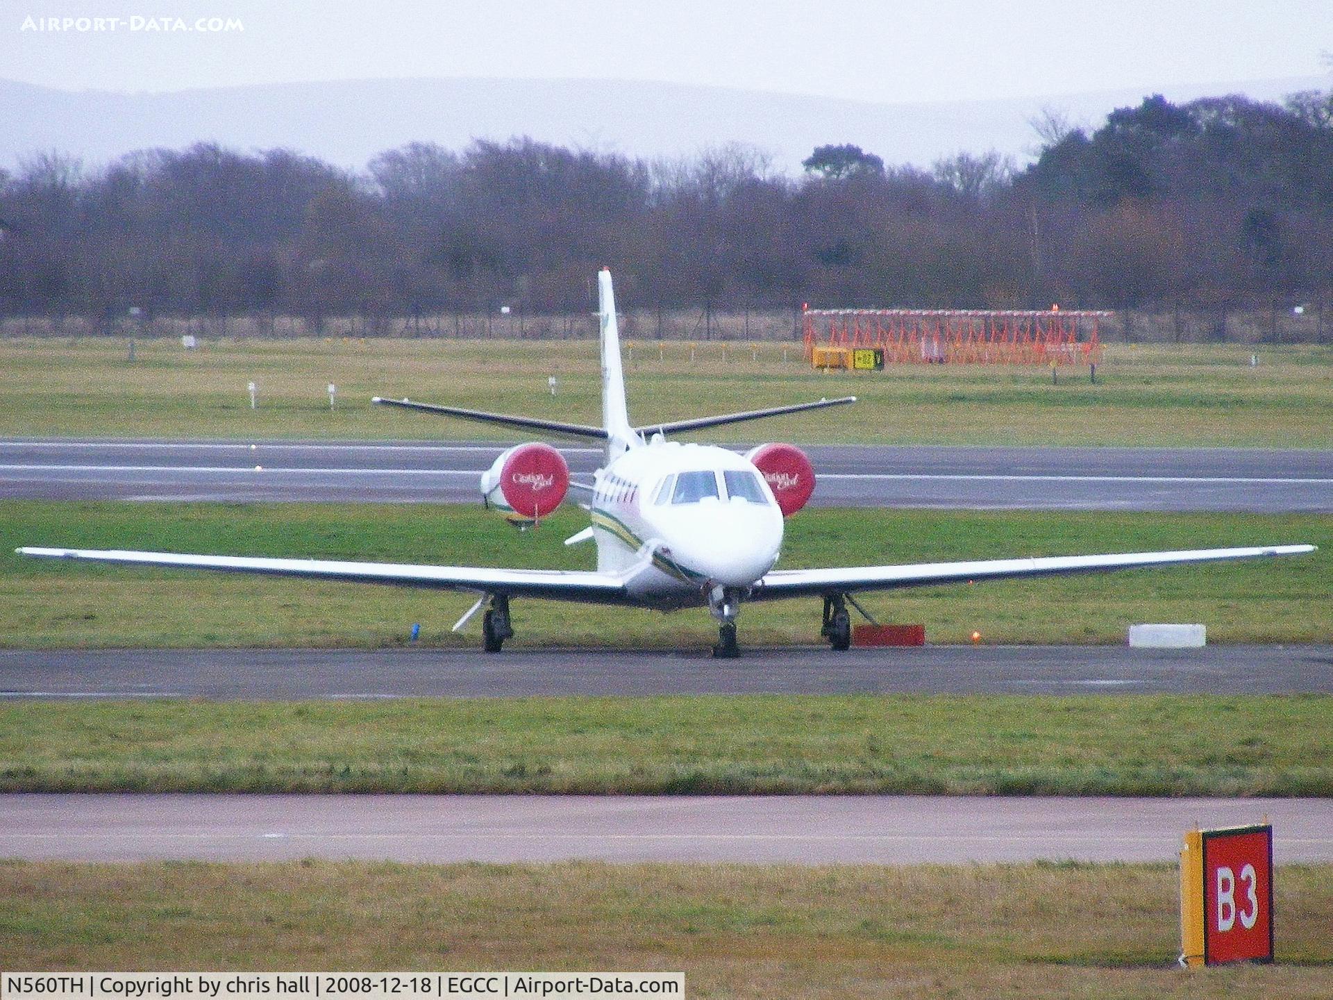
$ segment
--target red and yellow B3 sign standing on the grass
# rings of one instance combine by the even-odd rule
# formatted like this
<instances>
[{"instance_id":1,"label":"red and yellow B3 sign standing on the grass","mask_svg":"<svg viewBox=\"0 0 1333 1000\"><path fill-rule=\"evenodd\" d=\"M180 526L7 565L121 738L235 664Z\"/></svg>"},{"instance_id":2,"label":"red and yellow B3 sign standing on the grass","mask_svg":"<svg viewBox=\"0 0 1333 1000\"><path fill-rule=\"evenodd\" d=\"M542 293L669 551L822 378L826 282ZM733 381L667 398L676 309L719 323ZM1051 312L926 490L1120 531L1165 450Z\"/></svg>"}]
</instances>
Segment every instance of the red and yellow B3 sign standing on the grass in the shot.
<instances>
[{"instance_id":1,"label":"red and yellow B3 sign standing on the grass","mask_svg":"<svg viewBox=\"0 0 1333 1000\"><path fill-rule=\"evenodd\" d=\"M1186 965L1273 960L1273 827L1185 833L1180 940Z\"/></svg>"}]
</instances>

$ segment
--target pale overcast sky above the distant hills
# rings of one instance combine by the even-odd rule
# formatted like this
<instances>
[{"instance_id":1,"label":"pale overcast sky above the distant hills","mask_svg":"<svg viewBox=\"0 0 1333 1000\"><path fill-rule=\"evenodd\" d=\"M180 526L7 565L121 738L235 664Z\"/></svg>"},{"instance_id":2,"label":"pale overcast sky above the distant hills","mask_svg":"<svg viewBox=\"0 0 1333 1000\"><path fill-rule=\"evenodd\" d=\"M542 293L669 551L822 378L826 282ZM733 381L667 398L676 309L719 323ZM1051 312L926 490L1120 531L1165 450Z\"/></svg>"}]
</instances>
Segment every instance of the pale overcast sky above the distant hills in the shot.
<instances>
[{"instance_id":1,"label":"pale overcast sky above the distant hills","mask_svg":"<svg viewBox=\"0 0 1333 1000\"><path fill-rule=\"evenodd\" d=\"M63 17L119 23L51 31ZM946 101L1333 85L1330 51L1333 0L0 0L0 77L65 89L607 77Z\"/></svg>"}]
</instances>

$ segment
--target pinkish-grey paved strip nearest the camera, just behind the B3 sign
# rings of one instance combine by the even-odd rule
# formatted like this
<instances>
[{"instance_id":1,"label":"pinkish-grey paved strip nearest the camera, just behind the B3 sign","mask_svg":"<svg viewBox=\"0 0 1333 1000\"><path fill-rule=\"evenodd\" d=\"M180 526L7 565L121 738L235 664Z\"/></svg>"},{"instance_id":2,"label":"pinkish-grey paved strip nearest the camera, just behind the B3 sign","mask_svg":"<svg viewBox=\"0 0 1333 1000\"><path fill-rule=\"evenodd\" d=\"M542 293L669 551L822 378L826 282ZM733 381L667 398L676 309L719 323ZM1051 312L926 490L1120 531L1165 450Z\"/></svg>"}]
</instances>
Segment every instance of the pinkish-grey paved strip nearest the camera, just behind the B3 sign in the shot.
<instances>
[{"instance_id":1,"label":"pinkish-grey paved strip nearest the camera, just behind the B3 sign","mask_svg":"<svg viewBox=\"0 0 1333 1000\"><path fill-rule=\"evenodd\" d=\"M1333 860L1328 799L4 795L0 857L396 861L1174 861L1273 823L1278 864Z\"/></svg>"}]
</instances>

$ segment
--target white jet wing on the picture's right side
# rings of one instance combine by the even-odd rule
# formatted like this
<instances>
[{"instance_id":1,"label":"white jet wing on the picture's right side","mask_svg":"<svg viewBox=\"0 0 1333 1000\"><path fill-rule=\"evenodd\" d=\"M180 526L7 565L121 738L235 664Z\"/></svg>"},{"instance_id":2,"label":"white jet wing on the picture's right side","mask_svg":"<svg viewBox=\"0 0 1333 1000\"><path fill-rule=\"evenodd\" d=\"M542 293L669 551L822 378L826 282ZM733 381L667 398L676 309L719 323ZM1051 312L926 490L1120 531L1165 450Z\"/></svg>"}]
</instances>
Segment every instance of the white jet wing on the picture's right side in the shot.
<instances>
[{"instance_id":1,"label":"white jet wing on the picture's right side","mask_svg":"<svg viewBox=\"0 0 1333 1000\"><path fill-rule=\"evenodd\" d=\"M1110 569L1214 563L1226 559L1294 556L1314 545L1258 545L1250 548L1201 548L1176 552L1125 552L1104 556L1045 556L1038 559L986 559L968 563L917 563L913 565L838 567L829 569L774 569L754 584L749 600L777 600L802 595L833 595L856 591L889 591L901 587L1006 580L1020 576L1097 573Z\"/></svg>"}]
</instances>

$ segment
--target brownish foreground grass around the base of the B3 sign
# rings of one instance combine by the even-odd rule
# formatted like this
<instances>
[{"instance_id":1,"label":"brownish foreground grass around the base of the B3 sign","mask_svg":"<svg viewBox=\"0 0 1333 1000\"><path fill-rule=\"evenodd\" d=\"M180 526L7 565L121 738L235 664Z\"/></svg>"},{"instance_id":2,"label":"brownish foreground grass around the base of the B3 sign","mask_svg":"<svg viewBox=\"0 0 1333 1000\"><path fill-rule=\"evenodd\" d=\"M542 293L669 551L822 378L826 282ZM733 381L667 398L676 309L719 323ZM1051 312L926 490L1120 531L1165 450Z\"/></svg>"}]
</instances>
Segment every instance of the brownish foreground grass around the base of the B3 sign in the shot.
<instances>
[{"instance_id":1,"label":"brownish foreground grass around the base of the B3 sign","mask_svg":"<svg viewBox=\"0 0 1333 1000\"><path fill-rule=\"evenodd\" d=\"M1184 972L1174 865L0 864L8 969L684 971L690 997L1328 997L1333 867L1277 965Z\"/></svg>"}]
</instances>

